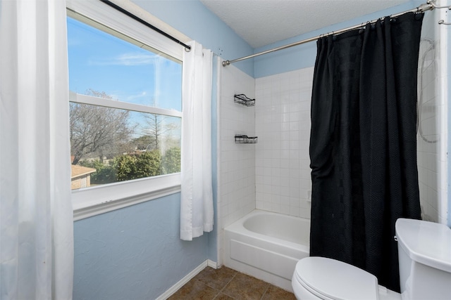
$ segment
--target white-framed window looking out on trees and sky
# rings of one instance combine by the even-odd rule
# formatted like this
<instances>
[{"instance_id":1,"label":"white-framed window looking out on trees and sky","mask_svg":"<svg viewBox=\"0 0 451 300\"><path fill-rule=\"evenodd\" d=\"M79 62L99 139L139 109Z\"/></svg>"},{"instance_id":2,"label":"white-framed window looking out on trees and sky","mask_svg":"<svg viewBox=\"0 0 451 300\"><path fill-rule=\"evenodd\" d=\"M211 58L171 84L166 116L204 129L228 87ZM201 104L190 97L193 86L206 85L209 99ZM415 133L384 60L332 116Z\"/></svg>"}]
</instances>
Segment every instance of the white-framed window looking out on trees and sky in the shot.
<instances>
[{"instance_id":1,"label":"white-framed window looking out on trees and sky","mask_svg":"<svg viewBox=\"0 0 451 300\"><path fill-rule=\"evenodd\" d=\"M96 2L68 4L75 218L180 186L183 48Z\"/></svg>"}]
</instances>

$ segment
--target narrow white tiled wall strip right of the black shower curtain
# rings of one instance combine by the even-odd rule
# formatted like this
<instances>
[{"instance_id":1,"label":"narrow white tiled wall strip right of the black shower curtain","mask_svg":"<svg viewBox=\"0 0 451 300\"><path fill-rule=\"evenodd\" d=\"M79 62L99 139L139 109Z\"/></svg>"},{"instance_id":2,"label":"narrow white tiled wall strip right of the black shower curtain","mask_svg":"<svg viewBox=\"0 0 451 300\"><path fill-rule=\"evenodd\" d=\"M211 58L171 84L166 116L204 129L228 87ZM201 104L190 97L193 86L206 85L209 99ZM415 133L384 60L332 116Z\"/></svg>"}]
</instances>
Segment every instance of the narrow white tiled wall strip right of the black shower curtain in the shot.
<instances>
[{"instance_id":1,"label":"narrow white tiled wall strip right of the black shower curtain","mask_svg":"<svg viewBox=\"0 0 451 300\"><path fill-rule=\"evenodd\" d=\"M445 39L435 20L440 10L425 15L419 53L418 171L422 219L446 223L447 219L447 96L443 86L446 72L440 54ZM446 48L445 48L446 49Z\"/></svg>"}]
</instances>

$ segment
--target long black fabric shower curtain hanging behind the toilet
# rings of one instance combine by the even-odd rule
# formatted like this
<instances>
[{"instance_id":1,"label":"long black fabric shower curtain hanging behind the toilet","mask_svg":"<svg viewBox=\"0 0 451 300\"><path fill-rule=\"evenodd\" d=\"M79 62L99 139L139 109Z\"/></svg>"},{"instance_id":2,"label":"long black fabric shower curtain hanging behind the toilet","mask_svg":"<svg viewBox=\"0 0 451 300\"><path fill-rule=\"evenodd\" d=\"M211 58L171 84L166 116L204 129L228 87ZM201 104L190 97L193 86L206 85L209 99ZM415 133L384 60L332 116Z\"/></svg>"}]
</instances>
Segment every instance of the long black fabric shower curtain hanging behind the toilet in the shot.
<instances>
[{"instance_id":1,"label":"long black fabric shower curtain hanging behind the toilet","mask_svg":"<svg viewBox=\"0 0 451 300\"><path fill-rule=\"evenodd\" d=\"M395 221L419 219L416 71L423 14L319 39L311 99L310 255L399 292Z\"/></svg>"}]
</instances>

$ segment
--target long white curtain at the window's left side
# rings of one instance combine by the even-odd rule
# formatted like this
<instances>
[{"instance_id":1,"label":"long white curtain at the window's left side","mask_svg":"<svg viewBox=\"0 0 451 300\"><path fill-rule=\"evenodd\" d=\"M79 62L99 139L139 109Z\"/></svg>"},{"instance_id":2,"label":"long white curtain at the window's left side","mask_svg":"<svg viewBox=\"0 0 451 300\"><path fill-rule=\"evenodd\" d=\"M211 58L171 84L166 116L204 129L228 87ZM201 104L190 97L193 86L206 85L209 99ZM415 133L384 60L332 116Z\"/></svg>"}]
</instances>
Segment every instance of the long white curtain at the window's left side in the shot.
<instances>
[{"instance_id":1,"label":"long white curtain at the window's left side","mask_svg":"<svg viewBox=\"0 0 451 300\"><path fill-rule=\"evenodd\" d=\"M0 2L0 299L72 299L66 2Z\"/></svg>"}]
</instances>

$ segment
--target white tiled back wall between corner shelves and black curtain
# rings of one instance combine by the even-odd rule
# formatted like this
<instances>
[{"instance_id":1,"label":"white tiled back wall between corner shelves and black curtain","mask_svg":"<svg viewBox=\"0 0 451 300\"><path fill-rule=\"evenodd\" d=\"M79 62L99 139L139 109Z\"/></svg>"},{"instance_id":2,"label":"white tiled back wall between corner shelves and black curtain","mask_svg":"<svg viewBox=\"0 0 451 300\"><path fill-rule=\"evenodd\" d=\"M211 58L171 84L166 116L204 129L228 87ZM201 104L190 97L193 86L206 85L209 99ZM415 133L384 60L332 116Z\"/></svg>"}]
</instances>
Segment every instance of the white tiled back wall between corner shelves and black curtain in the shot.
<instances>
[{"instance_id":1,"label":"white tiled back wall between corner shelves and black curtain","mask_svg":"<svg viewBox=\"0 0 451 300\"><path fill-rule=\"evenodd\" d=\"M257 209L310 218L313 67L256 79Z\"/></svg>"}]
</instances>

